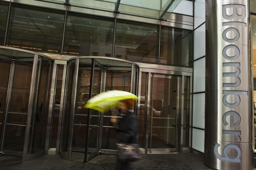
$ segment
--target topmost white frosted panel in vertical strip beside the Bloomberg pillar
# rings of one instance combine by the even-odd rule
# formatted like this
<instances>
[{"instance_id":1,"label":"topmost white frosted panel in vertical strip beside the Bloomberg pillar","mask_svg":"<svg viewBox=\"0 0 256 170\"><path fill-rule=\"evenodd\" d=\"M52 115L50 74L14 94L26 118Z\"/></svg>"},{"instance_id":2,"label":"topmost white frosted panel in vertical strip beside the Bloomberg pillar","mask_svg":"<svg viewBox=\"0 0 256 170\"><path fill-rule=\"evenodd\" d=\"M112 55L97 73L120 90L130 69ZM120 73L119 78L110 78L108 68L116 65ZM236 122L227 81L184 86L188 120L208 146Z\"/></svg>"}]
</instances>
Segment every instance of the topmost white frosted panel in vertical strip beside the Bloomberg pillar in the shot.
<instances>
[{"instance_id":1,"label":"topmost white frosted panel in vertical strip beside the Bloomberg pillar","mask_svg":"<svg viewBox=\"0 0 256 170\"><path fill-rule=\"evenodd\" d=\"M205 0L195 1L194 29L205 21Z\"/></svg>"}]
</instances>

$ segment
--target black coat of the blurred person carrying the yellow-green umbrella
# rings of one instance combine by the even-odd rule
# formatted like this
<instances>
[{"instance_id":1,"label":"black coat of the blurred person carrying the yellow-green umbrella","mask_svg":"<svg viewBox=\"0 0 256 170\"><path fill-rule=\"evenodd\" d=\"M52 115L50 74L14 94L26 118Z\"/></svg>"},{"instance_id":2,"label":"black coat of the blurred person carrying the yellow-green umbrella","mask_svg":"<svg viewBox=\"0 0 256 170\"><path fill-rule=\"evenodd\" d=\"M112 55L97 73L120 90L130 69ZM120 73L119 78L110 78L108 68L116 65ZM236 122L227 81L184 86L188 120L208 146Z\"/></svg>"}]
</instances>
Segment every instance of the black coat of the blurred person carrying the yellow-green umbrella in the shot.
<instances>
[{"instance_id":1,"label":"black coat of the blurred person carrying the yellow-green umbrella","mask_svg":"<svg viewBox=\"0 0 256 170\"><path fill-rule=\"evenodd\" d=\"M130 144L138 143L136 136L139 132L139 122L132 112L125 113L118 123L118 140L119 143Z\"/></svg>"}]
</instances>

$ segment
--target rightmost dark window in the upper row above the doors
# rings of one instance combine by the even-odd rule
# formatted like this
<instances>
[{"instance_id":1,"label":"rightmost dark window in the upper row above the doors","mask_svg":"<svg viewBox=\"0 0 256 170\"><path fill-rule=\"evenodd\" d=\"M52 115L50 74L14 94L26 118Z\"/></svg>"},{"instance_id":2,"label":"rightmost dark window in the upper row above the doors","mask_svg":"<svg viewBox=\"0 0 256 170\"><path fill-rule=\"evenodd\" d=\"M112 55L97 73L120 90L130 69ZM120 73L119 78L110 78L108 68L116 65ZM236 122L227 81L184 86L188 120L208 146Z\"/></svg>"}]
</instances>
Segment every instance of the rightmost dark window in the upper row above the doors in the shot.
<instances>
[{"instance_id":1,"label":"rightmost dark window in the upper row above the doors","mask_svg":"<svg viewBox=\"0 0 256 170\"><path fill-rule=\"evenodd\" d=\"M161 27L160 63L192 66L192 32Z\"/></svg>"}]
</instances>

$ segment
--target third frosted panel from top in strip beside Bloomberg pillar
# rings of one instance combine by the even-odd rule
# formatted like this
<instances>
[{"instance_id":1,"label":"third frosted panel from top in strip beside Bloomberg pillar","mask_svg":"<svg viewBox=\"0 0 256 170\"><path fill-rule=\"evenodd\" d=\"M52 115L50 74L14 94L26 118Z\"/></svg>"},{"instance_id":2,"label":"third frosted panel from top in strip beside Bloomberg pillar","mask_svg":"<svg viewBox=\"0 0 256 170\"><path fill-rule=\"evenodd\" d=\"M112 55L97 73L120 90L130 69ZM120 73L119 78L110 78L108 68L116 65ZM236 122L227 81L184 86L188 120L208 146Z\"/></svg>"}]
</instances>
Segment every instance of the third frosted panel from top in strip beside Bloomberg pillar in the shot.
<instances>
[{"instance_id":1,"label":"third frosted panel from top in strip beside Bloomberg pillar","mask_svg":"<svg viewBox=\"0 0 256 170\"><path fill-rule=\"evenodd\" d=\"M205 91L205 57L194 62L194 93Z\"/></svg>"}]
</instances>

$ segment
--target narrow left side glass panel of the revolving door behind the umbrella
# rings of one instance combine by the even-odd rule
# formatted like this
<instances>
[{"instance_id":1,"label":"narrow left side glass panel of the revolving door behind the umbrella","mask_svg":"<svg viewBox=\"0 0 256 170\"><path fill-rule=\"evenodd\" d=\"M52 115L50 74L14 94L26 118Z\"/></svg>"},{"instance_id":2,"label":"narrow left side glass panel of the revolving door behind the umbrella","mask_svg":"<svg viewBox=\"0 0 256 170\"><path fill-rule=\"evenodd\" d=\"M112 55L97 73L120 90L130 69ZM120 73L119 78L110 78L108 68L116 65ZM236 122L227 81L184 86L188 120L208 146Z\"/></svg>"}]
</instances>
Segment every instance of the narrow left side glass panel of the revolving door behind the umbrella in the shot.
<instances>
[{"instance_id":1,"label":"narrow left side glass panel of the revolving door behind the umbrella","mask_svg":"<svg viewBox=\"0 0 256 170\"><path fill-rule=\"evenodd\" d=\"M66 101L66 108L65 112L63 113L63 122L62 122L62 131L61 131L61 143L60 143L60 152L67 153L69 151L69 140L68 135L71 135L69 132L69 118L71 112L71 95L72 95L72 85L73 85L73 74L76 65L76 60L72 60L68 63L68 78L67 78L67 91L65 93L65 101ZM74 127L75 128L75 127ZM72 132L71 132L72 133Z\"/></svg>"}]
</instances>

